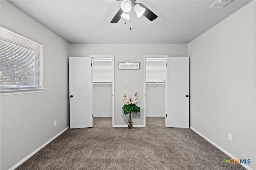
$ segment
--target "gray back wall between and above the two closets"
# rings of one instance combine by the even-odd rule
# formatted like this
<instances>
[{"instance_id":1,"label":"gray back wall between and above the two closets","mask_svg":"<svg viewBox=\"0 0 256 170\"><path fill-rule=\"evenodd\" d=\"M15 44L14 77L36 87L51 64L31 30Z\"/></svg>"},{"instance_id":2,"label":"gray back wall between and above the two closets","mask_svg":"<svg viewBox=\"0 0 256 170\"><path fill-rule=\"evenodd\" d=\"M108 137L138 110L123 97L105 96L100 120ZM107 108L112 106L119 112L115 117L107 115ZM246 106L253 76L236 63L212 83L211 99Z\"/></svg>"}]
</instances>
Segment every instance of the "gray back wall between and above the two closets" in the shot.
<instances>
[{"instance_id":1,"label":"gray back wall between and above the two closets","mask_svg":"<svg viewBox=\"0 0 256 170\"><path fill-rule=\"evenodd\" d=\"M143 125L143 71L144 55L188 55L187 44L70 44L70 56L115 56L115 108L114 125L127 125L128 115L122 113L123 95L132 98L138 93L141 111L132 118L133 125ZM119 70L118 62L140 62L139 70ZM129 83L126 83L126 78ZM162 101L163 103L165 101Z\"/></svg>"}]
</instances>

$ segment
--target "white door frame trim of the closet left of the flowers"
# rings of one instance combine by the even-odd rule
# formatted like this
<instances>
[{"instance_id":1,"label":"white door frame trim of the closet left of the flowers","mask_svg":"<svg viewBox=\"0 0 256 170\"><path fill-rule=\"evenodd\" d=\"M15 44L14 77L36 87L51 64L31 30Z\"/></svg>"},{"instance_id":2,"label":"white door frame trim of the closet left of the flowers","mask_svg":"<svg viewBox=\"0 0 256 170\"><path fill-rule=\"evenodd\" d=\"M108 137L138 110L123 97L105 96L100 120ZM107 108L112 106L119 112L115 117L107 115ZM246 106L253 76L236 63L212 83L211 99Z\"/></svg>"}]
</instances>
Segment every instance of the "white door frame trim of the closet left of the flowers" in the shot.
<instances>
[{"instance_id":1,"label":"white door frame trim of the closet left of the flowers","mask_svg":"<svg viewBox=\"0 0 256 170\"><path fill-rule=\"evenodd\" d=\"M114 55L90 55L92 58L112 58L112 127L114 127L115 112L115 56Z\"/></svg>"}]
</instances>

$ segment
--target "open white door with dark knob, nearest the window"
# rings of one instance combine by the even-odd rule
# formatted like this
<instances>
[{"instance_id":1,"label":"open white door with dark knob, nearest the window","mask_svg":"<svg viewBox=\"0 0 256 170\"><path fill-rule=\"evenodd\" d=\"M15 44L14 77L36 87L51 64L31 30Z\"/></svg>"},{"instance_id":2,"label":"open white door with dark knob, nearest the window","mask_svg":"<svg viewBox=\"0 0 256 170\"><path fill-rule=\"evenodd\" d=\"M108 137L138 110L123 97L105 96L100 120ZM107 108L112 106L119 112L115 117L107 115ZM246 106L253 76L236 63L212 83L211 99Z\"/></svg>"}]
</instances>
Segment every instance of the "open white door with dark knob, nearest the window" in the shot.
<instances>
[{"instance_id":1,"label":"open white door with dark knob, nearest the window","mask_svg":"<svg viewBox=\"0 0 256 170\"><path fill-rule=\"evenodd\" d=\"M91 57L68 57L70 128L92 127Z\"/></svg>"}]
</instances>

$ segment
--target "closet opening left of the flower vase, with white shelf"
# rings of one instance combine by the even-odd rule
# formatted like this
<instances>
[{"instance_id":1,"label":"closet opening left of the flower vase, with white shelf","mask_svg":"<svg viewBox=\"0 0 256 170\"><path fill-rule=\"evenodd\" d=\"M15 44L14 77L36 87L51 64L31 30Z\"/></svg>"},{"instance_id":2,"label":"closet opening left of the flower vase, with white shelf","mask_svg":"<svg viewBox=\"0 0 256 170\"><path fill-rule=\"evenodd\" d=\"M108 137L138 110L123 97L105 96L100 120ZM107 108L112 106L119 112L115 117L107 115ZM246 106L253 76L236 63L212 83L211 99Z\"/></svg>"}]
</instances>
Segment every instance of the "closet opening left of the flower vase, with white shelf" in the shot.
<instances>
[{"instance_id":1,"label":"closet opening left of the flower vase, with white shelf","mask_svg":"<svg viewBox=\"0 0 256 170\"><path fill-rule=\"evenodd\" d=\"M93 117L113 117L114 55L90 55L90 57L92 57Z\"/></svg>"}]
</instances>

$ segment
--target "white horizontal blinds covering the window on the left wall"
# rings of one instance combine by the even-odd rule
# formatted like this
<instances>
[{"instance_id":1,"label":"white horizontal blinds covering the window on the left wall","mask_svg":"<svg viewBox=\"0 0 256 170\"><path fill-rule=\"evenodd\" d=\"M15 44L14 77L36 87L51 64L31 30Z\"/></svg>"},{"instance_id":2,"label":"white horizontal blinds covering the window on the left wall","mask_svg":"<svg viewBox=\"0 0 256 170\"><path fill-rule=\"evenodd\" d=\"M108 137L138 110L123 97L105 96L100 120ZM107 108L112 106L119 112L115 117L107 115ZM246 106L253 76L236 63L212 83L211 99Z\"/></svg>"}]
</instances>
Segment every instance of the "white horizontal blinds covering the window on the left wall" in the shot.
<instances>
[{"instance_id":1,"label":"white horizontal blinds covering the window on the left wall","mask_svg":"<svg viewBox=\"0 0 256 170\"><path fill-rule=\"evenodd\" d=\"M42 88L42 44L0 27L0 88Z\"/></svg>"}]
</instances>

